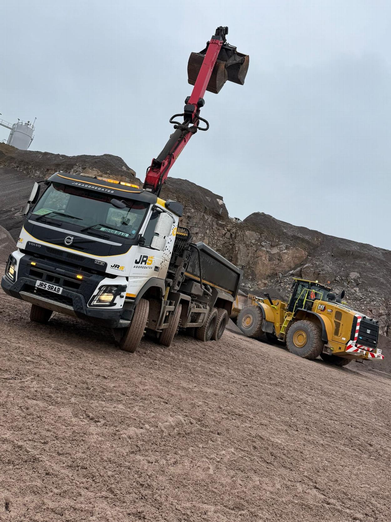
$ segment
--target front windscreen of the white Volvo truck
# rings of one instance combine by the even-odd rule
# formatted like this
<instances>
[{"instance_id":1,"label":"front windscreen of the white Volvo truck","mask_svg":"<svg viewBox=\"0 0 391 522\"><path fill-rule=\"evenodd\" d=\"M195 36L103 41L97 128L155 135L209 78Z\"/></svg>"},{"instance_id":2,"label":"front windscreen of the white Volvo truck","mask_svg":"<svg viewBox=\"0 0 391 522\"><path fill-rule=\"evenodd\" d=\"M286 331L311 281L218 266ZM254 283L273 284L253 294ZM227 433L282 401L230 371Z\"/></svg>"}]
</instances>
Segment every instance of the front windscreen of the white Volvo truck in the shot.
<instances>
[{"instance_id":1,"label":"front windscreen of the white Volvo truck","mask_svg":"<svg viewBox=\"0 0 391 522\"><path fill-rule=\"evenodd\" d=\"M114 207L115 196L95 193L63 183L53 183L35 205L36 220L51 219L77 225L85 232L99 231L133 239L138 233L148 203L124 198L124 208ZM88 230L89 229L89 230Z\"/></svg>"}]
</instances>

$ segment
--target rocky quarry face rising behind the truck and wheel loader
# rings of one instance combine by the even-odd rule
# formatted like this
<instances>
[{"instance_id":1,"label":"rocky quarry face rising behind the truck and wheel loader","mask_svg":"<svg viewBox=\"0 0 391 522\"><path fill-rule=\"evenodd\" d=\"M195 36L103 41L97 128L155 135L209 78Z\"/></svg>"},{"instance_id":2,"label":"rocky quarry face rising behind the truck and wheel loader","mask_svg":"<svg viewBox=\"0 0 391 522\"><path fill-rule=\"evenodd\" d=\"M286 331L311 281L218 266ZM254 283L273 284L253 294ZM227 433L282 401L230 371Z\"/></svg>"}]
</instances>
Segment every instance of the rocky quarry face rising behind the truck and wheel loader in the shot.
<instances>
[{"instance_id":1,"label":"rocky quarry face rising behind the truck and wheel loader","mask_svg":"<svg viewBox=\"0 0 391 522\"><path fill-rule=\"evenodd\" d=\"M47 177L63 170L132 179L141 184L123 160L111 155L67 157L0 144L0 167L31 177ZM390 251L296 227L263 212L243 221L230 218L222 196L186 180L169 178L161 196L184 204L181 223L190 229L195 241L204 241L237 266L244 266L245 289L261 293L264 288L274 288L287 297L292 277L329 282L337 292L345 289L347 301L378 319L382 334L391 337ZM20 206L24 203L21 200ZM13 219L21 220L20 208L15 210ZM7 228L7 223L2 224Z\"/></svg>"}]
</instances>

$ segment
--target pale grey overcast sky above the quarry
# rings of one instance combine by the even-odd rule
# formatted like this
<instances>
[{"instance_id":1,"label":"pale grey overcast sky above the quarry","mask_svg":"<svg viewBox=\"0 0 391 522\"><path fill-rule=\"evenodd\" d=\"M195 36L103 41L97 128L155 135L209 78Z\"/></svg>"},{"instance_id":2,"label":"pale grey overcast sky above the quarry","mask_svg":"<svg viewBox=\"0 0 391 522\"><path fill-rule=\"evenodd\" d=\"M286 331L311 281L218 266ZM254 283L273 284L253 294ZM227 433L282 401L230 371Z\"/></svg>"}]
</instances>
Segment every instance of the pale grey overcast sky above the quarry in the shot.
<instances>
[{"instance_id":1,"label":"pale grey overcast sky above the quarry","mask_svg":"<svg viewBox=\"0 0 391 522\"><path fill-rule=\"evenodd\" d=\"M250 55L246 83L205 94L210 131L170 175L231 216L391 249L389 0L3 0L2 117L36 116L34 150L115 154L143 179L218 25Z\"/></svg>"}]
</instances>

